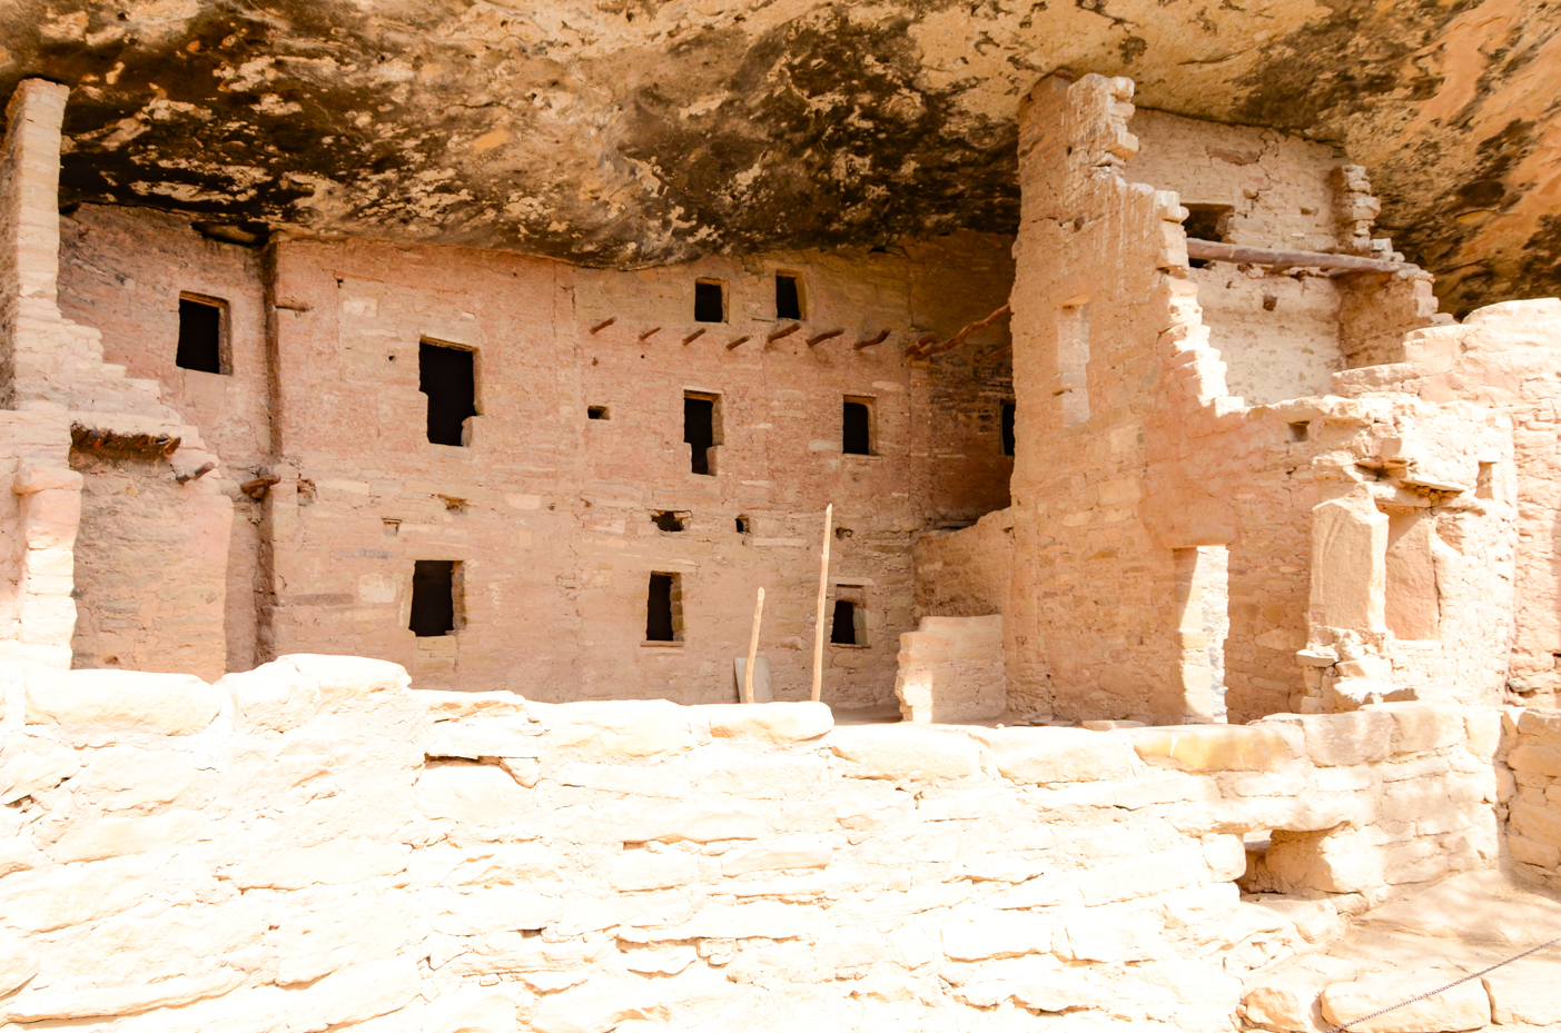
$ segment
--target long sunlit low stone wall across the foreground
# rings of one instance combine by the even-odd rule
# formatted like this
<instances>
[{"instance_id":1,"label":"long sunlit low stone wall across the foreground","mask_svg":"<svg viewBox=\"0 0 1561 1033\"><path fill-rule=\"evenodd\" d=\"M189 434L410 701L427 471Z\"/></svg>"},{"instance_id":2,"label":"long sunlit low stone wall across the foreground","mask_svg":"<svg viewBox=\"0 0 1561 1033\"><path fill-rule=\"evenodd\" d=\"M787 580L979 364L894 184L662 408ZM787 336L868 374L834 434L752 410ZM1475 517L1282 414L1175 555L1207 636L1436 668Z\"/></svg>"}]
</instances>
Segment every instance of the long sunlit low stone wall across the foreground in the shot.
<instances>
[{"instance_id":1,"label":"long sunlit low stone wall across the foreground","mask_svg":"<svg viewBox=\"0 0 1561 1033\"><path fill-rule=\"evenodd\" d=\"M6 1033L1229 1028L1244 972L1497 852L1494 710L834 727L318 655L0 683Z\"/></svg>"}]
</instances>

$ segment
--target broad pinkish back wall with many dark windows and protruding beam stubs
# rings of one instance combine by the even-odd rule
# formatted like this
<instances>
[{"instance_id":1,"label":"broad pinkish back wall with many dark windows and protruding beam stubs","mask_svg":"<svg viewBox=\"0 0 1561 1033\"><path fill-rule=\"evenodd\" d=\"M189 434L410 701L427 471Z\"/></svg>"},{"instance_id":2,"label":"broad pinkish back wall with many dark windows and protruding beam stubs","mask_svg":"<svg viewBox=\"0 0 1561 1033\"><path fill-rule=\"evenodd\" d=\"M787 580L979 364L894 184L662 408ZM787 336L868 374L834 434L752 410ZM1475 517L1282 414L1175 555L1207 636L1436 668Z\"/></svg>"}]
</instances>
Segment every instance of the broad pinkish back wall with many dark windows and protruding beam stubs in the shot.
<instances>
[{"instance_id":1,"label":"broad pinkish back wall with many dark windows and protruding beam stubs","mask_svg":"<svg viewBox=\"0 0 1561 1033\"><path fill-rule=\"evenodd\" d=\"M1007 504L1004 328L902 357L1001 307L1005 240L643 273L372 242L272 247L279 482L264 502L262 654L357 651L404 663L420 687L548 699L735 699L732 658L763 587L760 649L779 698L799 698L834 502L832 577L862 598L866 641L827 646L826 699L885 704L898 637L915 627L915 537ZM796 331L774 317L777 270L802 282ZM692 321L696 278L726 284L726 323ZM478 353L468 446L426 440L420 340ZM720 396L710 476L690 471L685 392ZM846 396L873 406L871 456L841 453ZM659 529L657 512L684 531ZM453 635L407 629L418 559L462 563ZM681 579L676 644L645 643L652 571Z\"/></svg>"}]
</instances>

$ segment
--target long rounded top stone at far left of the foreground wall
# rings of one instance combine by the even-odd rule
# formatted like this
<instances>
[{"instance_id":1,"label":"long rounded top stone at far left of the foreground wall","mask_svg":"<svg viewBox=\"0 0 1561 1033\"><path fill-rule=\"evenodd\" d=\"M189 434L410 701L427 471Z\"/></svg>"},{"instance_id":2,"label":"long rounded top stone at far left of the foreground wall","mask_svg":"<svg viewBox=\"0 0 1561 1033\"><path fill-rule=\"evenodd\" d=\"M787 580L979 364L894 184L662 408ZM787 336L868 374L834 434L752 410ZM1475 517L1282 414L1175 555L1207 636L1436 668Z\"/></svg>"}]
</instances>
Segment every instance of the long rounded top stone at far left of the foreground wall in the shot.
<instances>
[{"instance_id":1,"label":"long rounded top stone at far left of the foreground wall","mask_svg":"<svg viewBox=\"0 0 1561 1033\"><path fill-rule=\"evenodd\" d=\"M217 718L225 694L189 674L30 669L27 722L73 743L123 732L194 735Z\"/></svg>"}]
</instances>

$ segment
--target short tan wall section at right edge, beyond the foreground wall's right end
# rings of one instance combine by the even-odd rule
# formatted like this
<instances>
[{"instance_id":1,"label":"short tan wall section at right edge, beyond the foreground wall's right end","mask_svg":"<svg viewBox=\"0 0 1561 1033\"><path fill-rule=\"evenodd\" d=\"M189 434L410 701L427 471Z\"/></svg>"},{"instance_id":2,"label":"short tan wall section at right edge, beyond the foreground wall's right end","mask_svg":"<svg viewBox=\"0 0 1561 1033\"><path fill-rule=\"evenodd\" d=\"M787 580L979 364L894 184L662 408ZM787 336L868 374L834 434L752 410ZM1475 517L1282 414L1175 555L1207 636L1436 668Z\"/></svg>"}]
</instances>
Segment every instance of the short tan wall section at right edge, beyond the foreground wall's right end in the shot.
<instances>
[{"instance_id":1,"label":"short tan wall section at right edge, beyond the foreground wall's right end","mask_svg":"<svg viewBox=\"0 0 1561 1033\"><path fill-rule=\"evenodd\" d=\"M1506 847L1520 874L1561 889L1561 710L1511 712L1508 741Z\"/></svg>"}]
</instances>

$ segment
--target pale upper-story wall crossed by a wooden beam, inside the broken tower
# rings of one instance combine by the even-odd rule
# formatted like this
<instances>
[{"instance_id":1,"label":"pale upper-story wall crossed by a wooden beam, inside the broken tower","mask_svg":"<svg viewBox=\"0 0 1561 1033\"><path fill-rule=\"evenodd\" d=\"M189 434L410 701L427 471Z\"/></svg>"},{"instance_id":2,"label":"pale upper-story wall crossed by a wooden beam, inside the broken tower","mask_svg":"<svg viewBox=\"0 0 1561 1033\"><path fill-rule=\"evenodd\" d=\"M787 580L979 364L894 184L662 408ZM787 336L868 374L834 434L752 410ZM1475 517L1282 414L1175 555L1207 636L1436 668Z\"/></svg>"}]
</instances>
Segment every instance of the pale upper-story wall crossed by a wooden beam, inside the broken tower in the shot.
<instances>
[{"instance_id":1,"label":"pale upper-story wall crossed by a wooden beam, inside the broken tower","mask_svg":"<svg viewBox=\"0 0 1561 1033\"><path fill-rule=\"evenodd\" d=\"M1364 170L1333 147L1161 111L1138 111L1132 130L1127 178L1175 190L1189 237L1322 253L1388 245L1371 239L1380 206ZM1229 390L1249 406L1325 395L1338 370L1392 362L1402 335L1436 312L1424 275L1193 261L1191 279Z\"/></svg>"}]
</instances>

